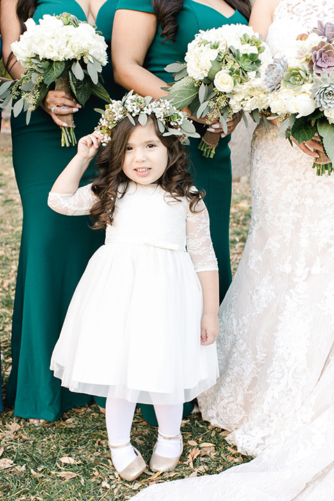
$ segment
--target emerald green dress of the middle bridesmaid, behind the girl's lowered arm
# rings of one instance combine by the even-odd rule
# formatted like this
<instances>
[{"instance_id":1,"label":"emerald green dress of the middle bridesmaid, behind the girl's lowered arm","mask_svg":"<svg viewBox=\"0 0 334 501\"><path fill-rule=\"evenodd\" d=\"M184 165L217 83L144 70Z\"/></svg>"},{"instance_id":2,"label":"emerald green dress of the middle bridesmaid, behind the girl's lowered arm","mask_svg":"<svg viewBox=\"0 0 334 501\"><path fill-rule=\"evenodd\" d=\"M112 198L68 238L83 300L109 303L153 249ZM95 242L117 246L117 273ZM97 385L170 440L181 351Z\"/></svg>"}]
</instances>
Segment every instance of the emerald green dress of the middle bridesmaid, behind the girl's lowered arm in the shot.
<instances>
[{"instance_id":1,"label":"emerald green dress of the middle bridesmaid, behind the girl's lowered arm","mask_svg":"<svg viewBox=\"0 0 334 501\"><path fill-rule=\"evenodd\" d=\"M150 0L120 0L118 9L138 10L154 13ZM247 24L238 10L231 17L225 17L217 10L198 3L195 0L184 0L182 10L177 16L179 29L175 42L163 42L161 27L157 29L154 40L145 57L144 67L165 82L173 81L170 73L164 68L176 61L184 61L189 42L200 30L218 28L223 24ZM202 136L206 127L196 124ZM230 161L230 136L221 138L213 159L202 156L198 150L198 139L191 139L189 157L191 160L196 187L206 192L205 205L209 211L210 229L214 250L219 268L219 295L221 301L230 287L232 280L230 267L229 225L232 192L232 172ZM154 375L153 375L154 376ZM156 424L154 412L150 406L141 406L145 420ZM191 411L193 405L185 404L184 415Z\"/></svg>"}]
</instances>

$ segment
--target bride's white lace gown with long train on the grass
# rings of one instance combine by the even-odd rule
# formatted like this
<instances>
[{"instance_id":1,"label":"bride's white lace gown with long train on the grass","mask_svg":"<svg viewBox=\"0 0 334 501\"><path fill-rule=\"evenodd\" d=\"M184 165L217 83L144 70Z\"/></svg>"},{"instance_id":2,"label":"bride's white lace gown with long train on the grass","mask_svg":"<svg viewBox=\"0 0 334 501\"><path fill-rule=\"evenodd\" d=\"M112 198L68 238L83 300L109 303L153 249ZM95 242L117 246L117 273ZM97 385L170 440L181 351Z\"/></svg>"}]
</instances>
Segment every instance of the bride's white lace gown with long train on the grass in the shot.
<instances>
[{"instance_id":1,"label":"bride's white lace gown with long train on the grass","mask_svg":"<svg viewBox=\"0 0 334 501\"><path fill-rule=\"evenodd\" d=\"M334 0L282 0L273 53L334 22ZM260 126L253 141L253 215L221 305L221 376L202 416L256 456L219 475L157 484L138 501L334 500L334 175Z\"/></svg>"}]
</instances>

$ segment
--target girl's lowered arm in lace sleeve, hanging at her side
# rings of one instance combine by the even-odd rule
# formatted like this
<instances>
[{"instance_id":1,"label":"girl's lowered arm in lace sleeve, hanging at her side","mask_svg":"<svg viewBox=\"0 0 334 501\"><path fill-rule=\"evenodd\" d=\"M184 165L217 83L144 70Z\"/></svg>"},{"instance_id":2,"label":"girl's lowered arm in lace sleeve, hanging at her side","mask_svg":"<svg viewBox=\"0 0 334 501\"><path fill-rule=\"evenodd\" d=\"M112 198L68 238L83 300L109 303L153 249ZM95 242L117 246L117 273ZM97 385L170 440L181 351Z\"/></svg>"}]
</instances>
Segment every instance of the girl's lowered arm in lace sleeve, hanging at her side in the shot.
<instances>
[{"instance_id":1,"label":"girl's lowered arm in lace sleeve, hanging at her side","mask_svg":"<svg viewBox=\"0 0 334 501\"><path fill-rule=\"evenodd\" d=\"M209 214L204 202L196 206L186 218L186 247L202 287L203 315L200 343L212 344L219 331L218 265L209 230Z\"/></svg>"}]
</instances>

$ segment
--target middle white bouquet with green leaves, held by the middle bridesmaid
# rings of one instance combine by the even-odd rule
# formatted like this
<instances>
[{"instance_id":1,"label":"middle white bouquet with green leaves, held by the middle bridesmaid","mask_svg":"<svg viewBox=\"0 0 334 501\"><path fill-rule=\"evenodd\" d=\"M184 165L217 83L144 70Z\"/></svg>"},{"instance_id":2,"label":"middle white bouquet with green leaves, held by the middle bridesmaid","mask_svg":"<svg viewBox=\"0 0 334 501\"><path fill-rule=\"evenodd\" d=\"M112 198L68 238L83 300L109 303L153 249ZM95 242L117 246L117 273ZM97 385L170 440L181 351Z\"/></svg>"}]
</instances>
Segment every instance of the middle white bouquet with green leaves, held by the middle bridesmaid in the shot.
<instances>
[{"instance_id":1,"label":"middle white bouquet with green leaves, held by the middle bridesmaid","mask_svg":"<svg viewBox=\"0 0 334 501\"><path fill-rule=\"evenodd\" d=\"M245 111L260 121L267 109L264 69L271 62L267 45L253 29L231 24L200 31L189 43L186 63L173 63L165 70L174 73L168 99L177 109L190 106L191 114L207 117L207 124L219 120L225 134L226 120ZM207 132L199 148L205 157L213 157L219 134Z\"/></svg>"}]
</instances>

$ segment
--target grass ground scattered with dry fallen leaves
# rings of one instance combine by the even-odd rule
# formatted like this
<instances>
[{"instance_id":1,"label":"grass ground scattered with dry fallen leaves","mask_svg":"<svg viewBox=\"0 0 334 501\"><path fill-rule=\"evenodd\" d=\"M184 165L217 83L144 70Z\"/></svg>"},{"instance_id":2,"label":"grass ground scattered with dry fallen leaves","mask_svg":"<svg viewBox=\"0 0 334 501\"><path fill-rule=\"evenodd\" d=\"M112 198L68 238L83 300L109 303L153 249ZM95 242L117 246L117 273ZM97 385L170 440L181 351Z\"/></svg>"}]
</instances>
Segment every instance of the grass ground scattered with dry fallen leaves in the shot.
<instances>
[{"instance_id":1,"label":"grass ground scattered with dry fallen leaves","mask_svg":"<svg viewBox=\"0 0 334 501\"><path fill-rule=\"evenodd\" d=\"M235 271L250 221L250 189L235 183L231 218L231 257ZM11 152L0 148L0 333L3 385L10 372L10 317L19 253L22 209L13 175ZM156 429L136 411L133 443L149 461ZM94 404L76 408L58 422L38 427L0 414L1 501L127 500L154 482L221 472L248 461L225 441L227 432L212 428L200 415L182 422L184 453L174 472L145 470L137 482L124 482L113 469L107 447L104 415Z\"/></svg>"}]
</instances>

